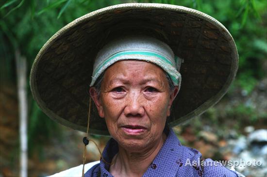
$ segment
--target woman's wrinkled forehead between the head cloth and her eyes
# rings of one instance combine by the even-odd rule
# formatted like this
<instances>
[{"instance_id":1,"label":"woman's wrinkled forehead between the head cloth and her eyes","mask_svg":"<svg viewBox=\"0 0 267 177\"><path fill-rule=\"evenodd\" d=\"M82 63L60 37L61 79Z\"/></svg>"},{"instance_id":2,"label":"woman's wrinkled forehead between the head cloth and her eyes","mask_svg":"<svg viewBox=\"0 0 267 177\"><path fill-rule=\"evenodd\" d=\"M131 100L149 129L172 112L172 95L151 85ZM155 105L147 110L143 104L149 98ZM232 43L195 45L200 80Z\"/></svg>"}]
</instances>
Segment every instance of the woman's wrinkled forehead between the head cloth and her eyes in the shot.
<instances>
[{"instance_id":1,"label":"woman's wrinkled forehead between the head cloth and her eyes","mask_svg":"<svg viewBox=\"0 0 267 177\"><path fill-rule=\"evenodd\" d=\"M157 86L167 88L167 73L159 66L141 60L117 61L103 74L103 87L119 85L128 86Z\"/></svg>"}]
</instances>

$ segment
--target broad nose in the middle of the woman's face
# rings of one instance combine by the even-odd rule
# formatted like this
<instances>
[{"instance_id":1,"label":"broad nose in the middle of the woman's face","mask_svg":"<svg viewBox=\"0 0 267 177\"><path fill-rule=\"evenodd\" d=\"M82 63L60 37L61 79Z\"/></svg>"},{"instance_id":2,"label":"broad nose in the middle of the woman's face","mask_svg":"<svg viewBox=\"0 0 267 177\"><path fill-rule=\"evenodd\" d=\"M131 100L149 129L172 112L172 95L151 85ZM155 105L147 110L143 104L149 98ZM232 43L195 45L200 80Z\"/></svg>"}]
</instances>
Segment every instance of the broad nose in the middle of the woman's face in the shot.
<instances>
[{"instance_id":1,"label":"broad nose in the middle of the woman's face","mask_svg":"<svg viewBox=\"0 0 267 177\"><path fill-rule=\"evenodd\" d=\"M126 106L124 114L126 117L143 117L145 110L143 107L141 94L138 92L131 92L127 95Z\"/></svg>"}]
</instances>

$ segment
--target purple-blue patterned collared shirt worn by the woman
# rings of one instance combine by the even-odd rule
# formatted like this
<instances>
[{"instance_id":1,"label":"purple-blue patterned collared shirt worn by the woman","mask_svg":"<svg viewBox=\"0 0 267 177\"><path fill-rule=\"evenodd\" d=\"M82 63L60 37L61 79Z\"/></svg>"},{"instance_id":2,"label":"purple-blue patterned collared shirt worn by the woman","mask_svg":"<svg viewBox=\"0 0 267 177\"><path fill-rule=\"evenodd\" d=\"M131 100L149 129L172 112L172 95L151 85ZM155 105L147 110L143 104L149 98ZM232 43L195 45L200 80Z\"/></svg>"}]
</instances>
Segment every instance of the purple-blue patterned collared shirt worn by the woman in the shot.
<instances>
[{"instance_id":1,"label":"purple-blue patterned collared shirt worn by the woman","mask_svg":"<svg viewBox=\"0 0 267 177\"><path fill-rule=\"evenodd\" d=\"M143 177L238 177L235 171L211 159L201 160L201 153L182 146L171 128L165 133L167 140ZM111 138L102 155L107 162L111 162L117 152L117 142ZM113 176L109 173L109 164L100 160L85 173L85 177Z\"/></svg>"}]
</instances>

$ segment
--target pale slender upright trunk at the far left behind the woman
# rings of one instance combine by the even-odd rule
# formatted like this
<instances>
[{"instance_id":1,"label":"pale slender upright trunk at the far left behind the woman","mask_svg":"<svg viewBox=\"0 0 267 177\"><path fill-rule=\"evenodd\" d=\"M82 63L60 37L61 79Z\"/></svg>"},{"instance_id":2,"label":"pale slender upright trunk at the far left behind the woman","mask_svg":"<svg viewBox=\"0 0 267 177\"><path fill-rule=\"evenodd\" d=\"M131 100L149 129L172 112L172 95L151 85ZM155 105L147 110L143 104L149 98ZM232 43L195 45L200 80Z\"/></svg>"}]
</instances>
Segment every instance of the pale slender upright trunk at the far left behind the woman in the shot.
<instances>
[{"instance_id":1,"label":"pale slender upright trunk at the far left behind the woman","mask_svg":"<svg viewBox=\"0 0 267 177\"><path fill-rule=\"evenodd\" d=\"M19 107L19 140L20 140L20 177L27 177L28 147L27 147L27 62L25 57L16 51L17 95Z\"/></svg>"}]
</instances>

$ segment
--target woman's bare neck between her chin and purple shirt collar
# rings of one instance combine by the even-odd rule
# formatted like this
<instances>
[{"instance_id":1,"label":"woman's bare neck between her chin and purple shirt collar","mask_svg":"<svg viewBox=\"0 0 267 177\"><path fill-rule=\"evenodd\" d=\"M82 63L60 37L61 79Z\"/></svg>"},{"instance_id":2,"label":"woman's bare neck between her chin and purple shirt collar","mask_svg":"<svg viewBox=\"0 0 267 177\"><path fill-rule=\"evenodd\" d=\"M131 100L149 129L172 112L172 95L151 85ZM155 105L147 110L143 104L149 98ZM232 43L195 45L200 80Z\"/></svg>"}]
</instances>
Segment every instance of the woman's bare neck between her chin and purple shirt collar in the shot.
<instances>
[{"instance_id":1,"label":"woman's bare neck between her chin and purple shirt collar","mask_svg":"<svg viewBox=\"0 0 267 177\"><path fill-rule=\"evenodd\" d=\"M167 136L163 133L159 142L139 152L129 152L118 145L118 153L112 159L109 172L114 177L142 177L166 139Z\"/></svg>"}]
</instances>

